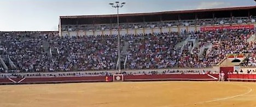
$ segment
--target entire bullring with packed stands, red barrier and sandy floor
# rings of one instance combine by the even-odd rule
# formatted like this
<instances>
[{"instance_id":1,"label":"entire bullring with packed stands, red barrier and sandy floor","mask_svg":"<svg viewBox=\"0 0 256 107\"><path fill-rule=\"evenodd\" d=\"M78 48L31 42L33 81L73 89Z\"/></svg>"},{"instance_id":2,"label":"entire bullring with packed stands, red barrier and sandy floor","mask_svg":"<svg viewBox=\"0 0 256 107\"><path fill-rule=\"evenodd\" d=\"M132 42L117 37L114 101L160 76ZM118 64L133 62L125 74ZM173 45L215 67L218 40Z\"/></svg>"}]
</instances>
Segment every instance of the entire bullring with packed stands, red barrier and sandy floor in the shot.
<instances>
[{"instance_id":1,"label":"entire bullring with packed stands, red barrier and sandy floor","mask_svg":"<svg viewBox=\"0 0 256 107\"><path fill-rule=\"evenodd\" d=\"M256 106L255 11L60 16L59 31L0 32L0 107Z\"/></svg>"}]
</instances>

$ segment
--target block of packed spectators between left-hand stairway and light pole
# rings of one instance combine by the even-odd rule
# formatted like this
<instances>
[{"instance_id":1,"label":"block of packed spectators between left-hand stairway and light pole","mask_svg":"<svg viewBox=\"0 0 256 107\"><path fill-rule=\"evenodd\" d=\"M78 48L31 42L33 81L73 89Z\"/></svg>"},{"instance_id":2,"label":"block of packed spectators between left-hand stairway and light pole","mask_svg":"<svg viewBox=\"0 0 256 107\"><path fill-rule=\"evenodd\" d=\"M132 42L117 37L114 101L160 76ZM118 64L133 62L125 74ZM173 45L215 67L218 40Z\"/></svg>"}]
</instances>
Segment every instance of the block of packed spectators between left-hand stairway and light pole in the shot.
<instances>
[{"instance_id":1,"label":"block of packed spectators between left-hand stairway and light pole","mask_svg":"<svg viewBox=\"0 0 256 107\"><path fill-rule=\"evenodd\" d=\"M52 58L54 70L114 69L117 63L117 39L57 39L50 47L59 54Z\"/></svg>"}]
</instances>

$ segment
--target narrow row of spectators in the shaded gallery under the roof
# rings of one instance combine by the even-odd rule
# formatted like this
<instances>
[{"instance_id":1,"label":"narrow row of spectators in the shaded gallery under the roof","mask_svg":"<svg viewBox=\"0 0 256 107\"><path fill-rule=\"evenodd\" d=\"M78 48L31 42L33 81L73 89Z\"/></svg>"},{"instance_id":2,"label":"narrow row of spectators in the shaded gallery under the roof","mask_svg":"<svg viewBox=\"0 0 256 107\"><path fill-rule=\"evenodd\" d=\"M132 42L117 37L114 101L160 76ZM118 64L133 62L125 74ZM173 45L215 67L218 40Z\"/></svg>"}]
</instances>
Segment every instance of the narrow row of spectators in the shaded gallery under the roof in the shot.
<instances>
[{"instance_id":1,"label":"narrow row of spectators in the shaded gallery under the roof","mask_svg":"<svg viewBox=\"0 0 256 107\"><path fill-rule=\"evenodd\" d=\"M174 20L162 22L141 22L141 23L120 23L120 28L155 28L171 26L204 26L204 25L225 25L235 23L251 23L255 17L232 17L232 18L215 18L215 19L197 19L197 20ZM61 31L89 31L102 29L117 29L117 25L98 24L98 25L62 25Z\"/></svg>"}]
</instances>

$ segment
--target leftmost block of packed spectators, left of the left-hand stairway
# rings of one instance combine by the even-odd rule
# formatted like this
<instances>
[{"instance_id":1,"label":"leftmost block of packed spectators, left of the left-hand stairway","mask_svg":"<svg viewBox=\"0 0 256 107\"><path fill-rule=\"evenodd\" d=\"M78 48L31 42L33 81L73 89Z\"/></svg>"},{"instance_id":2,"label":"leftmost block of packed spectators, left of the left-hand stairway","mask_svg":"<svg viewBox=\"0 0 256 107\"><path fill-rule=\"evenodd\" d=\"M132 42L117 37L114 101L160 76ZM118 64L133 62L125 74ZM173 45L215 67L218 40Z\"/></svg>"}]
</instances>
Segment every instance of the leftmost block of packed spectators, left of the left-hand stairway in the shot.
<instances>
[{"instance_id":1,"label":"leftmost block of packed spectators, left of the left-hand stairway","mask_svg":"<svg viewBox=\"0 0 256 107\"><path fill-rule=\"evenodd\" d=\"M48 37L57 36L57 32L0 32L1 56L6 56L5 64L11 62L21 72L43 72L49 69L49 60L43 49ZM3 67L3 66L2 66Z\"/></svg>"}]
</instances>

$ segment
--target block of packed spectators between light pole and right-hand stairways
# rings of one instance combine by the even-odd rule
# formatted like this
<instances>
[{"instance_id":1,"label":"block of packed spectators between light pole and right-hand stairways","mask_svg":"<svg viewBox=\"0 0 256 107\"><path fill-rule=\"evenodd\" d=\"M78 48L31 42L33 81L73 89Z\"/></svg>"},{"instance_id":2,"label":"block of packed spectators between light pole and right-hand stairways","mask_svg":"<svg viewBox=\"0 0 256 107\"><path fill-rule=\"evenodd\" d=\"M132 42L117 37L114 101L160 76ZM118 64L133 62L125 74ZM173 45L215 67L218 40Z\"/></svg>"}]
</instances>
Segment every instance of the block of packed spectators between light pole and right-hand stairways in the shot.
<instances>
[{"instance_id":1,"label":"block of packed spectators between light pole and right-hand stairways","mask_svg":"<svg viewBox=\"0 0 256 107\"><path fill-rule=\"evenodd\" d=\"M173 68L179 59L175 45L184 39L177 32L128 38L127 68Z\"/></svg>"}]
</instances>

